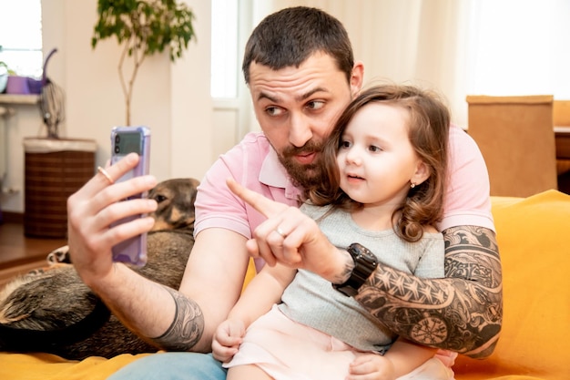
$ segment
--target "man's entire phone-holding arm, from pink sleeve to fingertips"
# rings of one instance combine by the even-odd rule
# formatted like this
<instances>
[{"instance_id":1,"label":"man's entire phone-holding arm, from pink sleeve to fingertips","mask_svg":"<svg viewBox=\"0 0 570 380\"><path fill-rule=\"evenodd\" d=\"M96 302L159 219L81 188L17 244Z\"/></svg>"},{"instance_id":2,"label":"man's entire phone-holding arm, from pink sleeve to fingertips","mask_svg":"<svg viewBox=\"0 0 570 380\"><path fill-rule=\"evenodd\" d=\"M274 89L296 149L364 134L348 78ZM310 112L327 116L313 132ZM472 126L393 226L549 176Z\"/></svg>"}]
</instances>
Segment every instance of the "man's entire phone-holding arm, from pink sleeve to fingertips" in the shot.
<instances>
[{"instance_id":1,"label":"man's entire phone-holding arm, from pink sleeve to fingertips","mask_svg":"<svg viewBox=\"0 0 570 380\"><path fill-rule=\"evenodd\" d=\"M155 200L125 200L155 187L154 177L113 181L137 162L136 154L127 155L106 169L110 180L97 173L68 198L72 262L87 286L142 339L169 350L209 352L212 334L239 298L249 262L247 239L220 228L199 232L178 292L112 262L115 244L154 224L146 217L113 225L157 209Z\"/></svg>"}]
</instances>

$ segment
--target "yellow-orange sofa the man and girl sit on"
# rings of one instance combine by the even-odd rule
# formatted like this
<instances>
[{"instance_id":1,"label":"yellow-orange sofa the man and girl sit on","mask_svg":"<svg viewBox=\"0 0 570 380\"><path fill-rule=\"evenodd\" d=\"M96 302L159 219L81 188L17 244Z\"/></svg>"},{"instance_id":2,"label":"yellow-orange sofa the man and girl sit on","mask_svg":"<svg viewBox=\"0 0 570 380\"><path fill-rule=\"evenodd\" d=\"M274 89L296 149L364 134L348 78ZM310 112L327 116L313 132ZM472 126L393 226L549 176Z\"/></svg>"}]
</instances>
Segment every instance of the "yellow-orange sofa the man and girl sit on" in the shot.
<instances>
[{"instance_id":1,"label":"yellow-orange sofa the man and girl sit on","mask_svg":"<svg viewBox=\"0 0 570 380\"><path fill-rule=\"evenodd\" d=\"M570 196L548 190L493 198L493 212L503 262L503 330L489 358L457 358L456 379L570 379ZM0 353L0 379L105 379L145 355L76 362Z\"/></svg>"}]
</instances>

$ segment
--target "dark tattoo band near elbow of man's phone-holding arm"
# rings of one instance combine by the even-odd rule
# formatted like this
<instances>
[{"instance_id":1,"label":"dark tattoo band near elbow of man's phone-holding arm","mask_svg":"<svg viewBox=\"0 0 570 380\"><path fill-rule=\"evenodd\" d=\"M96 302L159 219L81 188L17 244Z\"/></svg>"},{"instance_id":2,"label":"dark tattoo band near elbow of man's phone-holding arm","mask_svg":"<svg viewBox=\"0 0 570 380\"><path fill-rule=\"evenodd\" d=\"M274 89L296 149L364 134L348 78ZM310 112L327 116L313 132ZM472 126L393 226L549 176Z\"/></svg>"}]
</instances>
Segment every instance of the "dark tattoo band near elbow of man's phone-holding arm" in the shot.
<instances>
[{"instance_id":1,"label":"dark tattoo band near elbow of man's phone-holding arm","mask_svg":"<svg viewBox=\"0 0 570 380\"><path fill-rule=\"evenodd\" d=\"M176 305L174 321L166 333L153 338L154 344L169 351L189 351L204 332L204 315L198 303L167 288Z\"/></svg>"}]
</instances>

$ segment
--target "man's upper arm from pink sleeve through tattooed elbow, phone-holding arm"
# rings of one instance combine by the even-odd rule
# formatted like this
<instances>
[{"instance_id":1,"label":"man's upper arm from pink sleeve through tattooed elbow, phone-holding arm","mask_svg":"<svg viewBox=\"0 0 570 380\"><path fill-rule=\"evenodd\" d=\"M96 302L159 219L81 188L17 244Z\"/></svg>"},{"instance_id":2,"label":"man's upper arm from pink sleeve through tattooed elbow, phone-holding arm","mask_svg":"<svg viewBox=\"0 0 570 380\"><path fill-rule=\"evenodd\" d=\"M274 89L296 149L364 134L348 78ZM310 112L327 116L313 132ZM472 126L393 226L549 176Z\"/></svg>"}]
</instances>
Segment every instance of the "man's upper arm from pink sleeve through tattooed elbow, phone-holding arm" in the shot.
<instances>
[{"instance_id":1,"label":"man's upper arm from pink sleeve through tattooed elbow, phone-holding arm","mask_svg":"<svg viewBox=\"0 0 570 380\"><path fill-rule=\"evenodd\" d=\"M175 303L168 330L151 342L172 351L210 352L216 328L239 299L249 262L246 238L210 228L198 233Z\"/></svg>"}]
</instances>

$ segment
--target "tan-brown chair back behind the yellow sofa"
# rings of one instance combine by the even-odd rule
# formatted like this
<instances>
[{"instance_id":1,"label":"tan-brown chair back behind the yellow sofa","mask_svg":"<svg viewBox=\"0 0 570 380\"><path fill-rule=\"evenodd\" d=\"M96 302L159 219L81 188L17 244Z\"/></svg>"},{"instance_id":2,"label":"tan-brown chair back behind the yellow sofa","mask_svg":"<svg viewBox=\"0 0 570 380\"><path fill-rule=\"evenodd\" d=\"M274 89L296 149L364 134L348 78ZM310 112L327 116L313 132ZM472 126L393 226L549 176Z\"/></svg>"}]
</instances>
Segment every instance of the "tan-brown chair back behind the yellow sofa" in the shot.
<instances>
[{"instance_id":1,"label":"tan-brown chair back behind the yellow sofa","mask_svg":"<svg viewBox=\"0 0 570 380\"><path fill-rule=\"evenodd\" d=\"M468 96L468 133L489 170L491 195L557 189L553 96Z\"/></svg>"}]
</instances>

